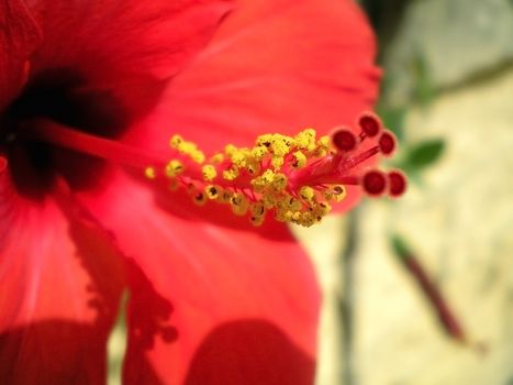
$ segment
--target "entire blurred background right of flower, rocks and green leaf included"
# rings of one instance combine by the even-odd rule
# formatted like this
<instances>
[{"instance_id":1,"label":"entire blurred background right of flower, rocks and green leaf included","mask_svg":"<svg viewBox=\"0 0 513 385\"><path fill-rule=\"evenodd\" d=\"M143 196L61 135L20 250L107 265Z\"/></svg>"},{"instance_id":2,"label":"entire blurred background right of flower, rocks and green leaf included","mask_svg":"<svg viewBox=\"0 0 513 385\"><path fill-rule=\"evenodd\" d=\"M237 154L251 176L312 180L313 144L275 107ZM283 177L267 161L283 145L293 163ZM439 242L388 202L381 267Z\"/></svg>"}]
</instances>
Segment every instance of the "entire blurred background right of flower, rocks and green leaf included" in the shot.
<instances>
[{"instance_id":1,"label":"entire blurred background right of flower, rocks and green leaf included","mask_svg":"<svg viewBox=\"0 0 513 385\"><path fill-rule=\"evenodd\" d=\"M513 384L513 1L366 0L408 194L299 231L324 290L320 385ZM390 239L461 324L439 321ZM320 246L321 245L321 246Z\"/></svg>"}]
</instances>

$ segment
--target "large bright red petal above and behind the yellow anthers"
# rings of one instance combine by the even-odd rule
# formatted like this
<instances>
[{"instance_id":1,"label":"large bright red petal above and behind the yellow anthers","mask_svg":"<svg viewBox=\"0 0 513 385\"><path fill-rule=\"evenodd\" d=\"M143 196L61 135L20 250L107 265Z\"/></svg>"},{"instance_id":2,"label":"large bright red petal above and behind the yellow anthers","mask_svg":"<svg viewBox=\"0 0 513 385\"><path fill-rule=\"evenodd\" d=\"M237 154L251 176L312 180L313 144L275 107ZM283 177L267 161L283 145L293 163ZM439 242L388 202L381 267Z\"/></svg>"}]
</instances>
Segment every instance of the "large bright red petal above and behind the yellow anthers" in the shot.
<instances>
[{"instance_id":1,"label":"large bright red petal above and behind the yellow anthers","mask_svg":"<svg viewBox=\"0 0 513 385\"><path fill-rule=\"evenodd\" d=\"M252 144L263 132L313 125L326 133L373 102L373 54L353 1L241 1L130 140L165 146L174 131L219 151L227 141Z\"/></svg>"}]
</instances>

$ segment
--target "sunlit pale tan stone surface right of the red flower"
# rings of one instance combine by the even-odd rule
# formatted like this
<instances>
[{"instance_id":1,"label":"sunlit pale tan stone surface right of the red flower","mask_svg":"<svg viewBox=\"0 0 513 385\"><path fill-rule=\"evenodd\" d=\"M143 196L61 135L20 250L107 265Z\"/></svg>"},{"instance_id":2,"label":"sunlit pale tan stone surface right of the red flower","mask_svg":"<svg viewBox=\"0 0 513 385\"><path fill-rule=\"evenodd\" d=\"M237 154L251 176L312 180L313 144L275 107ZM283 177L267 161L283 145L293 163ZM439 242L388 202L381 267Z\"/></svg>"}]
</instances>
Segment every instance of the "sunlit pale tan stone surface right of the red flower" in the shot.
<instances>
[{"instance_id":1,"label":"sunlit pale tan stone surface right of the red flower","mask_svg":"<svg viewBox=\"0 0 513 385\"><path fill-rule=\"evenodd\" d=\"M513 383L513 70L439 96L409 113L406 140L444 138L436 166L397 201L363 208L356 264L356 383L506 385ZM306 233L325 295L321 385L341 383L342 222ZM451 341L388 234L419 253L460 318L470 345ZM338 248L338 249L337 249ZM476 343L487 346L478 352Z\"/></svg>"}]
</instances>

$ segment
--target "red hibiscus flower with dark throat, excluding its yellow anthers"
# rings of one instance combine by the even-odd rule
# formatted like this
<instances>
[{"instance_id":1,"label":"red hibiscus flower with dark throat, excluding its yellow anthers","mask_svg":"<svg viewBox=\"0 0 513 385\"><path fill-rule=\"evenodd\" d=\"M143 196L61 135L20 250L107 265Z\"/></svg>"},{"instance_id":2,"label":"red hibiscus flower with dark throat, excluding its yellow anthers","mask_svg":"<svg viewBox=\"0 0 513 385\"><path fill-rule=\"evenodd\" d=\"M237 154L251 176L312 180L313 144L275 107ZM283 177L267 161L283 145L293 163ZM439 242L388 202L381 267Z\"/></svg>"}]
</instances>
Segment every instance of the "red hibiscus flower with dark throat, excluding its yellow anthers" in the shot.
<instances>
[{"instance_id":1,"label":"red hibiscus flower with dark throat, excluding its yellow anthers","mask_svg":"<svg viewBox=\"0 0 513 385\"><path fill-rule=\"evenodd\" d=\"M143 164L175 133L210 154L353 121L379 78L356 6L0 0L0 43L1 381L103 383L129 287L126 383L311 383L319 293L288 228L196 206ZM381 193L382 174L349 175L393 146L364 142L367 121L333 136L357 155L312 175Z\"/></svg>"}]
</instances>

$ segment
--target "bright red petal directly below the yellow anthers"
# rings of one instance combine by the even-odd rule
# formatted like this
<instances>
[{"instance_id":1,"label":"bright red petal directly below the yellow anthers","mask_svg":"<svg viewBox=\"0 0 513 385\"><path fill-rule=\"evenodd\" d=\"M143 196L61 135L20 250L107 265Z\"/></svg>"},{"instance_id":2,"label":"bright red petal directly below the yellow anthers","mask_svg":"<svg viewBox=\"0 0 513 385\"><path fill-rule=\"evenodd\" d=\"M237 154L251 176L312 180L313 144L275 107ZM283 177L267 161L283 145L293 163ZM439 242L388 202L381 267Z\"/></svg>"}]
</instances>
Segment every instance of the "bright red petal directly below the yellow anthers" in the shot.
<instances>
[{"instance_id":1,"label":"bright red petal directly below the yellow anthers","mask_svg":"<svg viewBox=\"0 0 513 385\"><path fill-rule=\"evenodd\" d=\"M165 210L146 186L121 175L88 200L172 307L156 328L147 314L165 301L144 285L133 289L127 383L312 383L317 286L285 226L213 224L199 217L208 209L179 197L168 197Z\"/></svg>"}]
</instances>

